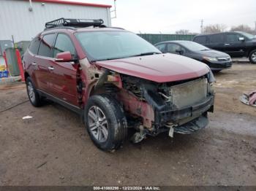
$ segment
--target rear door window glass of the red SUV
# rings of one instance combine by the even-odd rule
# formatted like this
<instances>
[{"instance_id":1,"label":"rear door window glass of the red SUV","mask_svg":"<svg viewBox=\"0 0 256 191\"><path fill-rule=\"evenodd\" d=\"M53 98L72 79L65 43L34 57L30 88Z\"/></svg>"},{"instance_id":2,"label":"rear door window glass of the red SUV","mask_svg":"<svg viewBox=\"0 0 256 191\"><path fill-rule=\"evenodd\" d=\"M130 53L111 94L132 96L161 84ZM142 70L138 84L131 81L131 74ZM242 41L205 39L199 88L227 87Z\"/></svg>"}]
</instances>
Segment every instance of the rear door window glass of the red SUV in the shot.
<instances>
[{"instance_id":1,"label":"rear door window glass of the red SUV","mask_svg":"<svg viewBox=\"0 0 256 191\"><path fill-rule=\"evenodd\" d=\"M46 34L45 36L43 36L39 46L38 55L52 58L53 57L52 47L53 47L54 39L55 39L55 34Z\"/></svg>"}]
</instances>

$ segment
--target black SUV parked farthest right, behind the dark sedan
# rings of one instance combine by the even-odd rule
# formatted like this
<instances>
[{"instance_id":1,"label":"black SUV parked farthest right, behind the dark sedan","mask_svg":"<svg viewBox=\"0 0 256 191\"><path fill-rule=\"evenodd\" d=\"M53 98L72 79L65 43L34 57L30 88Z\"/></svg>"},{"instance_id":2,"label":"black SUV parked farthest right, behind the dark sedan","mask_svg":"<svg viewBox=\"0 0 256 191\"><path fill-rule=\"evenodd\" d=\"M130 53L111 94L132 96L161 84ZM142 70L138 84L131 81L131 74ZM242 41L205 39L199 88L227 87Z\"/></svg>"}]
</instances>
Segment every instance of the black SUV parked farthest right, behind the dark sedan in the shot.
<instances>
[{"instance_id":1,"label":"black SUV parked farthest right, behind the dark sedan","mask_svg":"<svg viewBox=\"0 0 256 191\"><path fill-rule=\"evenodd\" d=\"M214 50L226 52L231 57L247 57L256 63L256 36L245 32L225 32L197 35L194 42Z\"/></svg>"}]
</instances>

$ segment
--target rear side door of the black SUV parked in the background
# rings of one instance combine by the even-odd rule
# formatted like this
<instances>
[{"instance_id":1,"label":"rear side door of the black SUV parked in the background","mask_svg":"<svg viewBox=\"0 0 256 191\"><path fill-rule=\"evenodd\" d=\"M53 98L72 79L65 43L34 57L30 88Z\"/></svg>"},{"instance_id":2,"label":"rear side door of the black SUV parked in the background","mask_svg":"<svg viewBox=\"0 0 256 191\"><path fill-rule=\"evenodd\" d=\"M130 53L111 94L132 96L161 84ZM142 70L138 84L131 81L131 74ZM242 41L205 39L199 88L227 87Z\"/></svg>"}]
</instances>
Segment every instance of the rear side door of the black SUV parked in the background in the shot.
<instances>
[{"instance_id":1,"label":"rear side door of the black SUV parked in the background","mask_svg":"<svg viewBox=\"0 0 256 191\"><path fill-rule=\"evenodd\" d=\"M208 36L208 47L221 52L225 51L225 34L211 34Z\"/></svg>"}]
</instances>

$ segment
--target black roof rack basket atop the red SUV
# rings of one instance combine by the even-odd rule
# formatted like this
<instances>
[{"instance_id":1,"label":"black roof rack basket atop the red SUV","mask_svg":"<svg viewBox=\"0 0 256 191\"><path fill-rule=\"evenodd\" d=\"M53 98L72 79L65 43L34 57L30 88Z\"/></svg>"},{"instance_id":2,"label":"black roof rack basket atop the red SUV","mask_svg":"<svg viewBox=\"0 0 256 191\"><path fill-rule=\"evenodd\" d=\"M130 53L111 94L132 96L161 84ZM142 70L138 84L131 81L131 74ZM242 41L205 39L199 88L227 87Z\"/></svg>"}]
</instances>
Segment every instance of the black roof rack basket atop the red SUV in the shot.
<instances>
[{"instance_id":1,"label":"black roof rack basket atop the red SUV","mask_svg":"<svg viewBox=\"0 0 256 191\"><path fill-rule=\"evenodd\" d=\"M71 27L106 27L103 25L102 19L67 19L59 18L48 23L45 23L45 28L55 28L59 26L71 26Z\"/></svg>"}]
</instances>

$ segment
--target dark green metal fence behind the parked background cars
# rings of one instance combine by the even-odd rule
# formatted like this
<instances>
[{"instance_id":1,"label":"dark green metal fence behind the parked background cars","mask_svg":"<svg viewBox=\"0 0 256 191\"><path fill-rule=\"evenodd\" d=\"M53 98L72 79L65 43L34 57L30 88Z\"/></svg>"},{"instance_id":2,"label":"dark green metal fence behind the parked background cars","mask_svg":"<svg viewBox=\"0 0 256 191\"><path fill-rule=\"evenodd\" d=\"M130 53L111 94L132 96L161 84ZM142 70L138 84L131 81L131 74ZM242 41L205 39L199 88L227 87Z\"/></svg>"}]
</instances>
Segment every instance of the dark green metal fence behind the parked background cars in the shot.
<instances>
[{"instance_id":1,"label":"dark green metal fence behind the parked background cars","mask_svg":"<svg viewBox=\"0 0 256 191\"><path fill-rule=\"evenodd\" d=\"M171 40L189 40L191 41L195 35L193 34L138 34L138 36L146 39L151 44L157 42L171 41Z\"/></svg>"}]
</instances>

